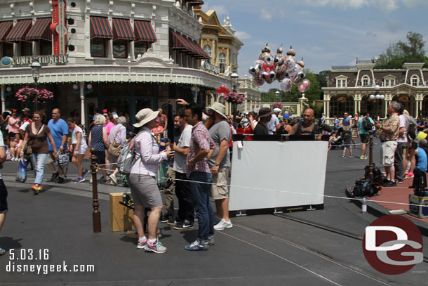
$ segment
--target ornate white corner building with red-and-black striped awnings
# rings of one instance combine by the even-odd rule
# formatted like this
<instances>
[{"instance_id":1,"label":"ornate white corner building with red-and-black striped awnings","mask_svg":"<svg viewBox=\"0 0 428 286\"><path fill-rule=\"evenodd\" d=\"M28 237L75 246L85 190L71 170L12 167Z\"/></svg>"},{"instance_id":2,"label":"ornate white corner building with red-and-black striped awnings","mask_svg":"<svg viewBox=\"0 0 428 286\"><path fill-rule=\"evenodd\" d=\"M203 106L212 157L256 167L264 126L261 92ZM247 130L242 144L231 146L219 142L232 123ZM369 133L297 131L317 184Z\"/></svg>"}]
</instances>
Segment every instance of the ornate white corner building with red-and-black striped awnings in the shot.
<instances>
[{"instance_id":1,"label":"ornate white corner building with red-and-black striped awnings","mask_svg":"<svg viewBox=\"0 0 428 286\"><path fill-rule=\"evenodd\" d=\"M55 93L39 108L58 107L64 117L77 110L82 124L95 108L128 112L133 121L141 108L160 108L175 98L206 104L229 79L201 69L202 60L210 59L199 45L203 24L194 12L202 4L0 0L2 110L32 108L14 94L33 84L34 60L42 66L39 87Z\"/></svg>"}]
</instances>

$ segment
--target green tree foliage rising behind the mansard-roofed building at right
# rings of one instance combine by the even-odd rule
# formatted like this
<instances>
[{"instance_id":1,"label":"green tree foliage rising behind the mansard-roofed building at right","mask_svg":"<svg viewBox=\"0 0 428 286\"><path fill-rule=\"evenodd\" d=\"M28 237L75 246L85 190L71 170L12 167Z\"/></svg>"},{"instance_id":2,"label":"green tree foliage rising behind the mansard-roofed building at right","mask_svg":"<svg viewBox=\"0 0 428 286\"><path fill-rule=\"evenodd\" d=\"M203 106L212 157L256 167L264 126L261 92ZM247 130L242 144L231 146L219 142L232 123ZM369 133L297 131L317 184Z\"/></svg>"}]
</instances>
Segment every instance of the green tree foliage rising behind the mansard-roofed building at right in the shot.
<instances>
[{"instance_id":1,"label":"green tree foliage rising behind the mansard-roofed building at right","mask_svg":"<svg viewBox=\"0 0 428 286\"><path fill-rule=\"evenodd\" d=\"M428 58L425 56L422 34L408 32L406 38L407 43L398 41L389 45L375 60L375 68L402 68L403 63L425 63L424 67L427 66Z\"/></svg>"}]
</instances>

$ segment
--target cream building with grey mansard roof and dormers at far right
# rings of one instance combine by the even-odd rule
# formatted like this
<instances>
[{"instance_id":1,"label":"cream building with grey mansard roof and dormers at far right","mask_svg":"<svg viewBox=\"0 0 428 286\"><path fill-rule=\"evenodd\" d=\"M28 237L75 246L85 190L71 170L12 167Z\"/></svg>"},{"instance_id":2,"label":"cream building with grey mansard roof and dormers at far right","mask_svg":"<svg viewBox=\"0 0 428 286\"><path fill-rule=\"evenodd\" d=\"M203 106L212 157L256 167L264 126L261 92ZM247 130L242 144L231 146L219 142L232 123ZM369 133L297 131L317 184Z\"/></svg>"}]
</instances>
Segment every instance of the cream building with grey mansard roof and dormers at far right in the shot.
<instances>
[{"instance_id":1,"label":"cream building with grey mansard roof and dormers at far right","mask_svg":"<svg viewBox=\"0 0 428 286\"><path fill-rule=\"evenodd\" d=\"M384 118L389 103L399 101L410 115L427 117L428 69L423 65L405 63L402 69L378 70L373 60L357 60L355 66L333 66L328 87L323 88L324 114L342 117L344 112L354 115L367 110ZM383 96L370 98L376 94Z\"/></svg>"}]
</instances>

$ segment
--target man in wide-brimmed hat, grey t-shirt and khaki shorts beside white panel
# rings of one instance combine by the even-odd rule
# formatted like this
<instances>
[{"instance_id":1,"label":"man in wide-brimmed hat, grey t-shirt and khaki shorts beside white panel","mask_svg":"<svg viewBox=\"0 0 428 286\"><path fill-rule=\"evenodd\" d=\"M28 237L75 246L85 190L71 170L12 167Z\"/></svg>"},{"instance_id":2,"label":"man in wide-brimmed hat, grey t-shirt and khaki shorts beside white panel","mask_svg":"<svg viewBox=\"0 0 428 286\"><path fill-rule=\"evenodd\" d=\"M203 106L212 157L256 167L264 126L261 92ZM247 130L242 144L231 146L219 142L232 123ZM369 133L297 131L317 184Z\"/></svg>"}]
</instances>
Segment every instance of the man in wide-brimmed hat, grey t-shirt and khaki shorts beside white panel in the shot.
<instances>
[{"instance_id":1,"label":"man in wide-brimmed hat, grey t-shirt and khaki shorts beside white panel","mask_svg":"<svg viewBox=\"0 0 428 286\"><path fill-rule=\"evenodd\" d=\"M225 228L232 228L232 222L229 220L229 187L227 186L230 169L230 126L225 121L227 119L225 105L213 103L207 109L210 110L210 117L214 118L214 124L208 130L215 143L215 150L208 161L213 175L211 197L215 200L217 217L221 219L214 226L214 229L224 230Z\"/></svg>"}]
</instances>

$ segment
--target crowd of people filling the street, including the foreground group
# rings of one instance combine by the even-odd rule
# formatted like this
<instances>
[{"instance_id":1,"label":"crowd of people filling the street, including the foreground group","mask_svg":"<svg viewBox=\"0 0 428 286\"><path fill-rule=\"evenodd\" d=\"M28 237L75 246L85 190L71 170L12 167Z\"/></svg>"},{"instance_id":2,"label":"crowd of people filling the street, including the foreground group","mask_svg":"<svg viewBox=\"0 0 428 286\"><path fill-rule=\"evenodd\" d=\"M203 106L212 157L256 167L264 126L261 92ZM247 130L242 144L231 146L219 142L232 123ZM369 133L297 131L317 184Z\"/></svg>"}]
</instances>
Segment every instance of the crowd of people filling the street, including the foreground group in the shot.
<instances>
[{"instance_id":1,"label":"crowd of people filling the street, including the foreground group","mask_svg":"<svg viewBox=\"0 0 428 286\"><path fill-rule=\"evenodd\" d=\"M0 162L6 160L6 149L10 152L11 161L20 158L32 162L35 174L32 190L37 194L43 190L45 164L52 171L51 181L64 182L64 170L60 164L55 164L62 155L71 157L71 162L77 167L78 176L74 183L85 181L88 170L83 168L83 157L88 148L94 148L102 183L116 185L121 149L129 138L133 138L133 166L126 180L135 207L133 223L138 233L137 248L155 253L167 251L157 238L159 221L178 230L192 229L196 213L199 230L196 240L185 245L187 250L208 249L214 244L215 230L233 227L229 218L228 183L233 134L246 134L246 140L270 135L327 136L329 149L341 142L343 158L347 157L347 150L349 157L354 157L354 138L359 138L359 158L366 160L371 131L375 135L378 133L382 143L383 186L396 186L405 178L427 171L427 133L422 122L408 115L400 103L389 104L389 117L383 123L363 111L361 116L352 117L345 113L342 119L335 117L333 126L326 124L324 115L316 120L312 108L304 110L302 118L297 119L281 117L278 108L260 108L258 113L251 111L232 117L226 115L222 103L216 102L208 107L189 105L182 99L177 103L184 107L174 115L175 129L171 142L166 136L168 117L161 109L140 110L135 115L137 123L133 124L132 132L129 118L119 116L115 111L103 110L100 113L96 110L88 141L76 117L70 116L65 121L58 108L52 110L52 118L47 124L46 115L41 111L30 115L26 108L22 110L21 117L16 110L9 114L6 112L1 115L1 122L7 124L0 126ZM167 179L161 185L165 194L165 210L159 190L159 181L163 181L159 180L159 166L162 165L167 169L161 175ZM178 198L177 214L174 212L173 191ZM1 228L7 212L7 190L1 177L0 194ZM215 213L210 199L215 202ZM146 208L150 209L147 236L144 228ZM4 254L3 249L0 249L0 254Z\"/></svg>"}]
</instances>

